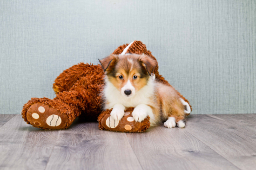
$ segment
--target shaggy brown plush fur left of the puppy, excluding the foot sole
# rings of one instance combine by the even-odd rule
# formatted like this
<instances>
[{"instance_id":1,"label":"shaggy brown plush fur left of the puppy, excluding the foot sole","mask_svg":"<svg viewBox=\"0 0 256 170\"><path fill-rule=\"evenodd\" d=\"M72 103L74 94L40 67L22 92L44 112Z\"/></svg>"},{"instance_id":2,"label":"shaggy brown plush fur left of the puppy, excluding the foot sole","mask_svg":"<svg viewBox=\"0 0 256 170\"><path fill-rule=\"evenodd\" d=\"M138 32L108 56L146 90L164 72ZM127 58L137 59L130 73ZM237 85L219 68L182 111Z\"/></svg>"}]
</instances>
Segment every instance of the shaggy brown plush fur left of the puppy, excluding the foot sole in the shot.
<instances>
[{"instance_id":1,"label":"shaggy brown plush fur left of the puppy, excluding the foot sole","mask_svg":"<svg viewBox=\"0 0 256 170\"><path fill-rule=\"evenodd\" d=\"M75 70L79 72L74 76ZM81 70L83 76L81 76ZM75 77L72 79L73 81L79 76L81 76L81 78L74 81L71 87L69 85L70 82L66 84L64 83L65 81L61 83L61 86L57 86L56 82L60 84L60 80L65 80L65 76L69 75L69 72ZM101 96L99 94L104 83L104 72L101 66L80 63L65 70L60 76L54 83L54 87L60 90L59 92L55 91L57 93L56 97L53 100L45 97L32 98L22 109L21 114L23 119L27 121L26 114L28 108L34 103L40 102L56 108L63 114L67 114L68 123L66 128L69 127L81 113L83 113L89 121L97 120L97 116L101 113ZM30 124L28 121L27 123Z\"/></svg>"}]
</instances>

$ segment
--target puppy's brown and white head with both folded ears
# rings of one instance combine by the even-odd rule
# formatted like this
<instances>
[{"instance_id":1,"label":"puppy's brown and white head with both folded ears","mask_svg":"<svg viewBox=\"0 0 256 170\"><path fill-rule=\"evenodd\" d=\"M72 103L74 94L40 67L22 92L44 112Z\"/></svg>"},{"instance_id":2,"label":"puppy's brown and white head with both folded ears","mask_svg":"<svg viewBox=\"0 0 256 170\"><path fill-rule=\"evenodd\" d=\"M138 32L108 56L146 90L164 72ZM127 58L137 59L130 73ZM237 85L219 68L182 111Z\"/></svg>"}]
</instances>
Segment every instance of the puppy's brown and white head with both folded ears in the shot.
<instances>
[{"instance_id":1,"label":"puppy's brown and white head with both folded ears","mask_svg":"<svg viewBox=\"0 0 256 170\"><path fill-rule=\"evenodd\" d=\"M146 55L110 55L100 60L111 82L125 97L132 97L147 85L156 61Z\"/></svg>"}]
</instances>

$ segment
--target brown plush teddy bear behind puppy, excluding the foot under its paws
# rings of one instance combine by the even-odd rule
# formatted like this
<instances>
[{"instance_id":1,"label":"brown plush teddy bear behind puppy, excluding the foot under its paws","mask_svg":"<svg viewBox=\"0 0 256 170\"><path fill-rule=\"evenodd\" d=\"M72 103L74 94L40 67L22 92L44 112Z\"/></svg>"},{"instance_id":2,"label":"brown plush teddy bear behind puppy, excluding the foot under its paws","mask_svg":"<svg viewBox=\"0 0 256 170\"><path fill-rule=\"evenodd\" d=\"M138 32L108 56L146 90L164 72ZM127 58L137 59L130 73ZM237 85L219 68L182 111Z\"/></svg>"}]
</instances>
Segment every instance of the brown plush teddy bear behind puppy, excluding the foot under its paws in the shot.
<instances>
[{"instance_id":1,"label":"brown plush teddy bear behind puppy, excluding the foot under its paws","mask_svg":"<svg viewBox=\"0 0 256 170\"><path fill-rule=\"evenodd\" d=\"M113 54L118 55L126 50L125 53L144 53L155 59L141 41L128 45L121 45ZM158 65L154 73L156 81L169 85L159 75ZM27 124L42 129L66 129L81 114L90 121L96 121L102 111L100 93L103 86L104 72L101 65L79 63L66 69L56 78L53 85L56 97L53 100L45 97L32 98L24 105L22 117ZM180 96L189 103L181 94Z\"/></svg>"}]
</instances>

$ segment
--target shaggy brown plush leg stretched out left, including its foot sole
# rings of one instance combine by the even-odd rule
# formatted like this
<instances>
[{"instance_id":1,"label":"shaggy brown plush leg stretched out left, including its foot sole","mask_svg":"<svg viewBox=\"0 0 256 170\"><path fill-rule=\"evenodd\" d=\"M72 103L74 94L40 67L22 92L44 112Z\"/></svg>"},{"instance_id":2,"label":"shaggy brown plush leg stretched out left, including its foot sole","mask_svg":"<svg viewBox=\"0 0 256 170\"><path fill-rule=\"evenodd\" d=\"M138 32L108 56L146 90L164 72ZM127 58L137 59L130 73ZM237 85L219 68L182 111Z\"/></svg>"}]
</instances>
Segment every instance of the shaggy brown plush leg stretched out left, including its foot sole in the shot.
<instances>
[{"instance_id":1,"label":"shaggy brown plush leg stretched out left, including its foot sole","mask_svg":"<svg viewBox=\"0 0 256 170\"><path fill-rule=\"evenodd\" d=\"M23 119L42 129L66 129L82 112L97 120L104 79L101 70L95 69L94 74L81 77L69 91L58 93L53 100L32 98L23 107Z\"/></svg>"}]
</instances>

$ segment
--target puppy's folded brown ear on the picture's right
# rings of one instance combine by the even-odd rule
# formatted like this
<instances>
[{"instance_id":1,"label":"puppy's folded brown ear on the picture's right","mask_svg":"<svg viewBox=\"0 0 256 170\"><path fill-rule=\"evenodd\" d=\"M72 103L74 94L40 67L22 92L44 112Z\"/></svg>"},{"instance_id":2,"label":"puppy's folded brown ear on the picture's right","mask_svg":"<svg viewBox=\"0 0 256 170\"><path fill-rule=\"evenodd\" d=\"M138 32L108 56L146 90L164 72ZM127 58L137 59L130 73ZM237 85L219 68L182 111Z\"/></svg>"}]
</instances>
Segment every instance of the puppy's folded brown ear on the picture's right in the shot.
<instances>
[{"instance_id":1,"label":"puppy's folded brown ear on the picture's right","mask_svg":"<svg viewBox=\"0 0 256 170\"><path fill-rule=\"evenodd\" d=\"M152 72L154 71L157 62L153 58L147 55L141 55L139 57L139 62L142 64L143 67L148 71L149 76L151 76Z\"/></svg>"}]
</instances>

